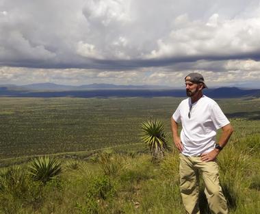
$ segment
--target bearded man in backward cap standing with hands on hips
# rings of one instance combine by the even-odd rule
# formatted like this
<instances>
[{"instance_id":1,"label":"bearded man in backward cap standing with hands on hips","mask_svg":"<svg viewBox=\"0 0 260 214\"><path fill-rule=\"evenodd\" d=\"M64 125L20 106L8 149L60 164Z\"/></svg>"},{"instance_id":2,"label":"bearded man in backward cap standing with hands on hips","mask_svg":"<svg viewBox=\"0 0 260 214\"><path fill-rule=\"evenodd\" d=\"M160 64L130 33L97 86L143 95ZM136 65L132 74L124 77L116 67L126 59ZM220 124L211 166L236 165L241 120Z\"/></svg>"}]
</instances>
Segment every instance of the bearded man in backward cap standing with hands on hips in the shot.
<instances>
[{"instance_id":1,"label":"bearded man in backward cap standing with hands on hips","mask_svg":"<svg viewBox=\"0 0 260 214\"><path fill-rule=\"evenodd\" d=\"M202 75L192 72L185 77L187 99L171 118L172 137L180 152L180 189L186 213L198 214L198 171L203 175L205 194L211 213L226 214L226 199L220 187L216 157L229 141L233 128L218 104L203 95L207 88ZM181 135L178 123L181 122ZM222 134L216 143L216 133Z\"/></svg>"}]
</instances>

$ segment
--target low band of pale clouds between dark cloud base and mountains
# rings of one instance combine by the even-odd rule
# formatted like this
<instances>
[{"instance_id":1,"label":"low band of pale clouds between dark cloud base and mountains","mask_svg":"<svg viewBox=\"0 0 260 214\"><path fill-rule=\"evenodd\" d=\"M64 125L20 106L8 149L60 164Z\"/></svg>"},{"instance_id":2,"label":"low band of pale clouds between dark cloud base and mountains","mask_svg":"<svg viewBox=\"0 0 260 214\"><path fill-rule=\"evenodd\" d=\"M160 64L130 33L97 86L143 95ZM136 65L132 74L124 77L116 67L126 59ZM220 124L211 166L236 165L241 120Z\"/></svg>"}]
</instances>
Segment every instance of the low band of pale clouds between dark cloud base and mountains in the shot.
<instances>
[{"instance_id":1,"label":"low band of pale clouds between dark cloud base and mountains","mask_svg":"<svg viewBox=\"0 0 260 214\"><path fill-rule=\"evenodd\" d=\"M140 68L139 70L103 71L94 69L38 69L0 67L0 84L52 82L68 85L83 85L90 83L114 83L118 85L168 85L183 87L184 77L190 72L200 72L207 85L211 88L218 85L234 85L260 81L260 71L255 70L258 62L244 61L244 64L235 61L226 64L229 68L225 72L213 72L203 69L177 70L175 68ZM245 68L243 70L243 68ZM250 86L250 85L248 85Z\"/></svg>"}]
</instances>

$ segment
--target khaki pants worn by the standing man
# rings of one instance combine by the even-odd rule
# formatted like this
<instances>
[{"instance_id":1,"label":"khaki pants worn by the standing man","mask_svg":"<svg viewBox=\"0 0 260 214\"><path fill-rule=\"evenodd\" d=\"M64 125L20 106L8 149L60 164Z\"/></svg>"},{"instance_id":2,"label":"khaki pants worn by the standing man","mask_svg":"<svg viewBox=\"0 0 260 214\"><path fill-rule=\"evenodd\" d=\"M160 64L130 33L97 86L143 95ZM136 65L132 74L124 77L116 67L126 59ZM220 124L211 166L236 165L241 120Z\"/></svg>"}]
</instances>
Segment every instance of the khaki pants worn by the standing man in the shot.
<instances>
[{"instance_id":1,"label":"khaki pants worn by the standing man","mask_svg":"<svg viewBox=\"0 0 260 214\"><path fill-rule=\"evenodd\" d=\"M186 157L180 154L180 189L187 214L199 214L198 170L201 170L205 183L205 195L212 214L228 213L226 199L220 187L218 164L216 161L200 161L200 157Z\"/></svg>"}]
</instances>

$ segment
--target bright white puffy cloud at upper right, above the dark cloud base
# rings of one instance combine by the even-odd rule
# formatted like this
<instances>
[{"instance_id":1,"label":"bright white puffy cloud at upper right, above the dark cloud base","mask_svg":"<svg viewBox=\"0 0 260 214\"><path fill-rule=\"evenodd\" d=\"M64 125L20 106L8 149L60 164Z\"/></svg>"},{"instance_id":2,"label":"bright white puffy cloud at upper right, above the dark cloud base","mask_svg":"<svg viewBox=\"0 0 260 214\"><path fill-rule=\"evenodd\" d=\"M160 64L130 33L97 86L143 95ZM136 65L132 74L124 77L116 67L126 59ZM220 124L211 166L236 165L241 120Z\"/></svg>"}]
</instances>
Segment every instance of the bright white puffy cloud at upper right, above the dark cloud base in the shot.
<instances>
[{"instance_id":1,"label":"bright white puffy cloud at upper right, above the dark cloud base","mask_svg":"<svg viewBox=\"0 0 260 214\"><path fill-rule=\"evenodd\" d=\"M260 15L248 19L218 20L213 14L207 22L188 21L187 15L178 16L175 23L185 23L172 29L164 39L157 40L157 49L148 58L157 57L222 57L260 50Z\"/></svg>"}]
</instances>

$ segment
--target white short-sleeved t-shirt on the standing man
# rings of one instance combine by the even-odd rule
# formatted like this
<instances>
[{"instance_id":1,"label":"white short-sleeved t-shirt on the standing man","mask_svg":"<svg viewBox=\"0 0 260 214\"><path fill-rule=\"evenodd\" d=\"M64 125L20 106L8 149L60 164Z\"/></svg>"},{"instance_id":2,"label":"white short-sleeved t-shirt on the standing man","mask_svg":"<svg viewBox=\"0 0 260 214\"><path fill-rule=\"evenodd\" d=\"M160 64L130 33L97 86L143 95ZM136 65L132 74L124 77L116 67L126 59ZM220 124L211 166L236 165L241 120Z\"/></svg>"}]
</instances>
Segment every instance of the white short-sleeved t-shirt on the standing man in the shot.
<instances>
[{"instance_id":1,"label":"white short-sleeved t-shirt on the standing man","mask_svg":"<svg viewBox=\"0 0 260 214\"><path fill-rule=\"evenodd\" d=\"M230 123L218 104L205 95L196 103L191 103L191 98L181 101L172 118L182 124L182 153L186 156L198 156L213 150L217 130Z\"/></svg>"}]
</instances>

